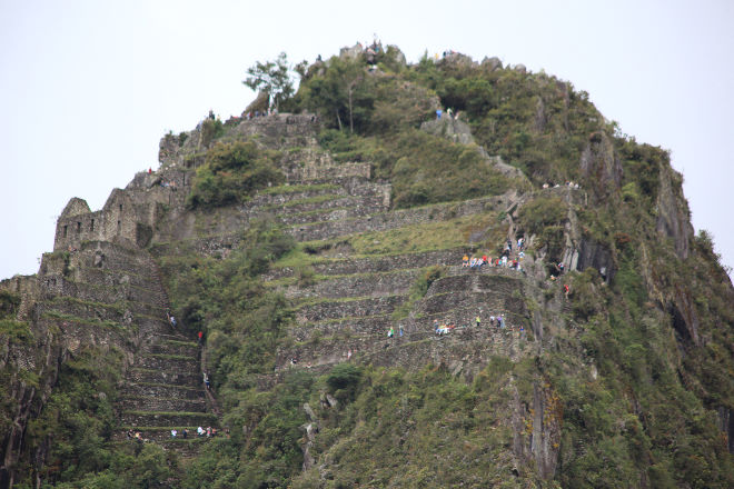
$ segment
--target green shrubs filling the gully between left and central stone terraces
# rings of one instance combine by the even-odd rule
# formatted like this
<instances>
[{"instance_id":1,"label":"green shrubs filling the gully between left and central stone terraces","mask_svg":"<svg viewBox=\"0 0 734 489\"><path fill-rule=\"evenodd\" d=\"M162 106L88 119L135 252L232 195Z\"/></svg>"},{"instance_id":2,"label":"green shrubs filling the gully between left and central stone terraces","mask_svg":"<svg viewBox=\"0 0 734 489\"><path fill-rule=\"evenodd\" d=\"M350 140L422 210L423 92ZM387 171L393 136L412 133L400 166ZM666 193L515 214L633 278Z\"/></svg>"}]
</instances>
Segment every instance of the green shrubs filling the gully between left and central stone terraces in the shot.
<instances>
[{"instance_id":1,"label":"green shrubs filling the gully between left and central stone terraces","mask_svg":"<svg viewBox=\"0 0 734 489\"><path fill-rule=\"evenodd\" d=\"M275 347L289 321L286 300L258 276L294 247L269 222L256 223L226 260L192 253L163 260L173 307L184 325L208 338L215 385L272 371ZM239 380L232 381L238 383Z\"/></svg>"}]
</instances>

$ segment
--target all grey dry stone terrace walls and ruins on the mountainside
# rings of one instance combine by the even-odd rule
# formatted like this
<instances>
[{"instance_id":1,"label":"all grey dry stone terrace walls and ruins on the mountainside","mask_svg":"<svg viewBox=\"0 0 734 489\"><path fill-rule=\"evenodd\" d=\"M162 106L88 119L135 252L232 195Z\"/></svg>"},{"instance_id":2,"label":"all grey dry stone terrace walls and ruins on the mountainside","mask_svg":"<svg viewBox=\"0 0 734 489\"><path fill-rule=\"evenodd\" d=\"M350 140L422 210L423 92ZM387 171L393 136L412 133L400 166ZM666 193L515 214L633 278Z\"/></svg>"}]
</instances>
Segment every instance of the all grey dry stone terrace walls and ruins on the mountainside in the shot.
<instances>
[{"instance_id":1,"label":"all grey dry stone terrace walls and ruins on the mountainside","mask_svg":"<svg viewBox=\"0 0 734 489\"><path fill-rule=\"evenodd\" d=\"M19 317L60 325L69 352L83 345L126 352L116 433L119 442L128 442L123 435L128 429L139 430L143 438L190 455L200 440L171 440L170 430L187 428L194 437L199 426L218 426L214 397L202 386L206 362L192 338L173 330L166 320L169 301L151 251L157 258L176 255L179 244L186 243L201 255L225 257L237 247L250 221L264 217L274 218L298 241L316 241L502 214L506 216L507 238L516 238L513 218L529 194L514 190L457 203L391 210L389 183L375 181L369 163L334 161L316 142L319 129L310 114L242 118L228 123L222 141L254 138L265 148L285 150L279 164L287 182L257 192L245 204L209 213L191 211L185 201L194 172L214 141L204 123L187 133L168 134L160 143L159 170L136 174L126 189L115 189L98 211L91 211L82 199L71 199L57 222L54 252L43 257L38 277L0 283L21 293ZM459 121L430 122L423 129L474 143L468 126ZM585 171L616 182L616 166L607 161L604 141L589 148ZM498 168L504 164L488 156L487 160ZM502 169L524 178L516 169ZM581 192L563 192L573 220ZM676 239L685 234L675 226L675 216L662 214L661 222ZM532 242L533 237L528 238ZM568 268L602 267L611 261L603 249L581 239L574 229L567 229L565 238ZM680 239L681 253L686 251L684 238ZM346 247L317 257L310 267L318 279L301 285L295 281L292 268L271 269L264 279L291 300L296 323L290 330L292 342L277 352L276 372L258 382L270 386L287 369L323 371L345 361L406 368L433 362L472 378L492 356L518 361L535 355L542 348L538 340L544 321L528 303L544 302L539 286L546 278L543 265L536 266L528 257L525 272L487 267L469 270L459 266L469 250L467 244L357 256ZM442 267L442 276L425 295L416 297L414 285L436 266ZM503 328L489 323L490 316L499 315L505 319ZM438 336L436 323L456 328ZM390 328L394 338L387 338ZM542 410L543 396L537 397ZM542 448L530 450L536 455L553 451L548 448L552 435L537 436ZM522 451L523 447L516 449ZM546 453L543 460L554 457Z\"/></svg>"}]
</instances>

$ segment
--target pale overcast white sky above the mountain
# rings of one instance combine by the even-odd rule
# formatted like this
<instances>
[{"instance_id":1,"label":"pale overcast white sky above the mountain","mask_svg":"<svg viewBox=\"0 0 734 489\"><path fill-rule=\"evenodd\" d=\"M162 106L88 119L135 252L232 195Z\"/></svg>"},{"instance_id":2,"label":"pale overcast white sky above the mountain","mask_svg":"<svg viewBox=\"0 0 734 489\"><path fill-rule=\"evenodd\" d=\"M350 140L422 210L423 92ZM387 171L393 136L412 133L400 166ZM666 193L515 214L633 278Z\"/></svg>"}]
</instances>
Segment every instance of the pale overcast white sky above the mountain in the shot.
<instances>
[{"instance_id":1,"label":"pale overcast white sky above the mountain","mask_svg":"<svg viewBox=\"0 0 734 489\"><path fill-rule=\"evenodd\" d=\"M158 142L239 114L256 61L371 40L544 69L669 149L698 229L734 266L734 1L0 0L0 279L36 273L72 197L100 209Z\"/></svg>"}]
</instances>

